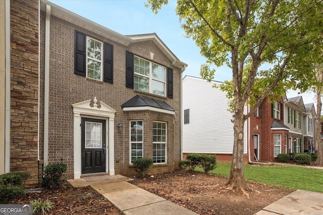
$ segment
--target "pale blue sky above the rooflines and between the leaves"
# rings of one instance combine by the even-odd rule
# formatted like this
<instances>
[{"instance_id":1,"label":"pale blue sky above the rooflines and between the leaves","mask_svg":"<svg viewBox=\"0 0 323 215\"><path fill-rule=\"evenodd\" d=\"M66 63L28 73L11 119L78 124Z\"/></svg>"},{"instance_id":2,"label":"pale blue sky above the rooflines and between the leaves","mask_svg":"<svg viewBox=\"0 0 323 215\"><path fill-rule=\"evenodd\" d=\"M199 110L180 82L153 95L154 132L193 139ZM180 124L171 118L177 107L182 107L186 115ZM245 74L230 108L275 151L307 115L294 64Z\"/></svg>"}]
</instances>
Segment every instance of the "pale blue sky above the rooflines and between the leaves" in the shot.
<instances>
[{"instance_id":1,"label":"pale blue sky above the rooflines and between the leaves","mask_svg":"<svg viewBox=\"0 0 323 215\"><path fill-rule=\"evenodd\" d=\"M199 48L191 38L185 37L176 15L176 1L169 0L158 14L145 8L146 0L50 0L75 14L87 18L123 35L156 33L168 48L188 64L184 76L200 77L200 65L205 62ZM183 76L183 77L184 77ZM231 69L227 66L216 68L214 80L231 80ZM297 96L288 92L287 97ZM304 103L314 103L312 93L302 94Z\"/></svg>"}]
</instances>

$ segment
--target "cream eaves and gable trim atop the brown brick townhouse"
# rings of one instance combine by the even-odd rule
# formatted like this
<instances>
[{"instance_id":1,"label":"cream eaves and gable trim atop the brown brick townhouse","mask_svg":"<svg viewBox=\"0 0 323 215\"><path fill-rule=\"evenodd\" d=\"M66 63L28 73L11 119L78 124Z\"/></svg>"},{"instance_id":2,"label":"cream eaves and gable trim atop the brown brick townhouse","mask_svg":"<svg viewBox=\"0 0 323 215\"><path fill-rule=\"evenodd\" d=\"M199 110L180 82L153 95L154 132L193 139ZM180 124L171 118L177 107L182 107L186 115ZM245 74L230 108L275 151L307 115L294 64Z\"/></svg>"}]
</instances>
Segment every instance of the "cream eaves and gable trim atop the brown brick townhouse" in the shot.
<instances>
[{"instance_id":1,"label":"cream eaves and gable trim atop the brown brick townhouse","mask_svg":"<svg viewBox=\"0 0 323 215\"><path fill-rule=\"evenodd\" d=\"M92 31L95 34L101 35L107 39L118 42L122 45L129 46L131 43L138 41L152 40L163 53L168 57L172 64L178 68L183 69L187 64L180 61L175 54L165 45L163 41L159 39L157 34L138 34L138 35L122 35L118 32L115 32L109 28L106 28L102 25L99 25L91 20L88 20L80 15L77 15L69 10L66 10L58 5L55 5L47 0L40 0L40 10L46 12L46 6L50 6L50 14L52 16L58 17L62 20L65 20L69 23L77 25L86 30Z\"/></svg>"}]
</instances>

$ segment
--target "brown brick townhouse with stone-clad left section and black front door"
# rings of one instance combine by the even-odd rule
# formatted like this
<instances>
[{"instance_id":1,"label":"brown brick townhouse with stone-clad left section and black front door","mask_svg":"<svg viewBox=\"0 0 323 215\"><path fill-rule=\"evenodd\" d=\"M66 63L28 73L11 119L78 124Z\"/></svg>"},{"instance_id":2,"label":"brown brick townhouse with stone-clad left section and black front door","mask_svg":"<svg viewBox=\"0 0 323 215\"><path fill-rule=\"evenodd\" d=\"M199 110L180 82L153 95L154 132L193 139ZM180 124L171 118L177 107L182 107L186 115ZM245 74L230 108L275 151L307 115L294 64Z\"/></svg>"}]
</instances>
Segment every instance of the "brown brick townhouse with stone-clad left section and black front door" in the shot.
<instances>
[{"instance_id":1,"label":"brown brick townhouse with stone-clad left section and black front door","mask_svg":"<svg viewBox=\"0 0 323 215\"><path fill-rule=\"evenodd\" d=\"M45 0L38 3L1 3L10 7L5 18L11 27L4 30L12 32L5 67L11 93L3 99L11 98L11 130L2 129L10 140L0 144L10 156L0 152L2 173L31 172L29 183L36 183L39 161L63 161L66 178L125 174L134 172L138 157L153 159L152 172L174 170L181 158L187 64L156 34L124 36ZM4 124L7 115L1 114Z\"/></svg>"}]
</instances>

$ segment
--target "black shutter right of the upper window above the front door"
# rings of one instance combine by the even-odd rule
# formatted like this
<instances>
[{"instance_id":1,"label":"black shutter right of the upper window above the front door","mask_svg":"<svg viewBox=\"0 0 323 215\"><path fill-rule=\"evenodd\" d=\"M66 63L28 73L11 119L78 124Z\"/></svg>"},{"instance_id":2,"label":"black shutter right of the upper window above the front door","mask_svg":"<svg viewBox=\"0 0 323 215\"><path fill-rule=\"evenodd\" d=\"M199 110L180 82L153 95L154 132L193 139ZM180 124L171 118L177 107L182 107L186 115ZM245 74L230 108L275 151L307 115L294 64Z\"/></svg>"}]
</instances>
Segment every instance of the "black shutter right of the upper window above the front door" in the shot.
<instances>
[{"instance_id":1,"label":"black shutter right of the upper window above the front door","mask_svg":"<svg viewBox=\"0 0 323 215\"><path fill-rule=\"evenodd\" d=\"M104 42L103 82L113 84L113 45Z\"/></svg>"}]
</instances>

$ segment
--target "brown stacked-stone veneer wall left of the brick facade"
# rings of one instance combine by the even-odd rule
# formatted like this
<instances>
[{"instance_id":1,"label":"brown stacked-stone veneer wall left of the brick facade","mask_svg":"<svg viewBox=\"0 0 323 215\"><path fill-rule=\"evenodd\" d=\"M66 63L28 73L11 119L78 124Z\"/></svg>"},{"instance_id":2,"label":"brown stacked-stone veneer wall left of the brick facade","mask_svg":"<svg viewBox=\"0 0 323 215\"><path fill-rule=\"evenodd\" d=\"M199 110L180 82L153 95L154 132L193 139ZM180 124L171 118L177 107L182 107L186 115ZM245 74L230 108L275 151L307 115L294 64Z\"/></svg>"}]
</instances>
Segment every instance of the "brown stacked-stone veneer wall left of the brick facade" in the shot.
<instances>
[{"instance_id":1,"label":"brown stacked-stone veneer wall left of the brick facade","mask_svg":"<svg viewBox=\"0 0 323 215\"><path fill-rule=\"evenodd\" d=\"M10 171L38 183L38 1L11 0Z\"/></svg>"}]
</instances>

